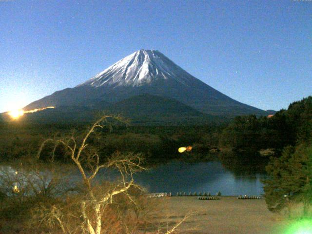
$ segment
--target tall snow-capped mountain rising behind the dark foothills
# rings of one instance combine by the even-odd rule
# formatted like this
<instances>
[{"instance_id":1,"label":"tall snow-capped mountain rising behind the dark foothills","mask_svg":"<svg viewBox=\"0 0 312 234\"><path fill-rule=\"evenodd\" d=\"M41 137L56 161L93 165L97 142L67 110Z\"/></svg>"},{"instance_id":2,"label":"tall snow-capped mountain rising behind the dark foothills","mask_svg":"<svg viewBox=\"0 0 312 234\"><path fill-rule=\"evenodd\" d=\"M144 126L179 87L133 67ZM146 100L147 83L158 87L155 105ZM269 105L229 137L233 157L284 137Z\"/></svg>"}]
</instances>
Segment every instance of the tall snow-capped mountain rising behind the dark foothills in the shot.
<instances>
[{"instance_id":1,"label":"tall snow-capped mountain rising behind the dark foothills","mask_svg":"<svg viewBox=\"0 0 312 234\"><path fill-rule=\"evenodd\" d=\"M138 102L140 98L150 96L174 99L198 113L213 116L267 115L266 111L238 102L215 90L159 51L144 49L119 60L74 88L57 91L23 109L83 106L110 110L114 109L116 103L136 96L139 97L135 98ZM131 103L136 105L133 101Z\"/></svg>"}]
</instances>

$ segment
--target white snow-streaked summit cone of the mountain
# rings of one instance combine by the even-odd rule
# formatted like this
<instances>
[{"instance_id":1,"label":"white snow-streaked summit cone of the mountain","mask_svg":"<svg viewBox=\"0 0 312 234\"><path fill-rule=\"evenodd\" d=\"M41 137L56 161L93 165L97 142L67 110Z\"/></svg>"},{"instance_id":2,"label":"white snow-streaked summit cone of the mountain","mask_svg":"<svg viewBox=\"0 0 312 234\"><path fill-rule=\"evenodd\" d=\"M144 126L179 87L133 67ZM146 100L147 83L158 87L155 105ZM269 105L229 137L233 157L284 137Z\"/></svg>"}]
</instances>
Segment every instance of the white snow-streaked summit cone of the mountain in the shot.
<instances>
[{"instance_id":1,"label":"white snow-streaked summit cone of the mountain","mask_svg":"<svg viewBox=\"0 0 312 234\"><path fill-rule=\"evenodd\" d=\"M173 78L187 84L189 73L157 50L138 50L78 86L142 86L157 79ZM77 86L77 87L78 87Z\"/></svg>"}]
</instances>

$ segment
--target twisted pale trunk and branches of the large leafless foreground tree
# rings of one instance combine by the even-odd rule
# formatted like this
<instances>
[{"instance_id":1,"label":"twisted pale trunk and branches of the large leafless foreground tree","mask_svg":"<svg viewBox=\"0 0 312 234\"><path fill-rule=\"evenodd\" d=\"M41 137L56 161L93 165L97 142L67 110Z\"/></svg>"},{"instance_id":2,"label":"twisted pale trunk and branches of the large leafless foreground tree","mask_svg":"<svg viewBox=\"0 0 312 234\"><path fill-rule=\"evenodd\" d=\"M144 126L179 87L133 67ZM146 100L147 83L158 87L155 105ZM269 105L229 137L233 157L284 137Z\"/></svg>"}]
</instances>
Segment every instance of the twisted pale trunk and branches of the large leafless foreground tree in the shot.
<instances>
[{"instance_id":1,"label":"twisted pale trunk and branches of the large leafless foreground tree","mask_svg":"<svg viewBox=\"0 0 312 234\"><path fill-rule=\"evenodd\" d=\"M116 195L126 195L126 197L133 204L135 204L137 209L139 209L138 204L127 191L132 186L139 188L134 184L133 174L139 170L145 170L145 168L140 165L141 155L121 155L120 153L117 153L109 158L106 163L100 164L100 155L97 148L92 146L92 144L88 141L91 134L95 134L96 137L99 137L97 134L98 129L103 129L104 127L108 127L110 130L112 129L111 122L107 121L109 118L118 122L123 122L120 116L102 116L89 128L86 134L82 137L81 143L78 143L77 137L74 136L74 133L72 133L69 137L46 139L40 145L37 155L39 158L45 145L51 142L54 144L52 150L52 161L55 159L57 148L61 146L66 151L66 155L69 155L71 160L77 166L86 189L85 198L80 201L80 211L83 219L83 224L80 225L80 231L82 231L82 233L101 234L103 212L107 208L108 204L113 203L113 197ZM92 186L92 181L102 168L117 169L121 177L121 183L117 184L114 188L108 189L105 193L98 194ZM89 175L90 170L91 174ZM66 228L62 224L61 213L59 213L60 211L58 210L57 213L56 210L53 210L53 212L55 214L54 218L59 223L59 227L63 233L66 233ZM130 232L130 229L126 230Z\"/></svg>"}]
</instances>

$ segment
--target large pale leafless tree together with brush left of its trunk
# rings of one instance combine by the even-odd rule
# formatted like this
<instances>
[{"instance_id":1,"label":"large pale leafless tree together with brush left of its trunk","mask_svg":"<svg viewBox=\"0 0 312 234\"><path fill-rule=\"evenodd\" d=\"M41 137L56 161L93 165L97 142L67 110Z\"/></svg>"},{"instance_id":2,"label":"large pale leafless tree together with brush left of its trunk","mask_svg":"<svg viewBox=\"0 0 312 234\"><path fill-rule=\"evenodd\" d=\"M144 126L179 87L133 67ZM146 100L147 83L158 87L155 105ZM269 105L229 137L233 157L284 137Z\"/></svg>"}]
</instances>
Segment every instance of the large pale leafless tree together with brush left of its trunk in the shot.
<instances>
[{"instance_id":1,"label":"large pale leafless tree together with brush left of its trunk","mask_svg":"<svg viewBox=\"0 0 312 234\"><path fill-rule=\"evenodd\" d=\"M49 209L41 207L39 215L40 222L45 221L49 227L58 226L62 233L86 233L86 234L101 234L103 226L103 217L111 204L115 204L115 197L123 195L135 206L138 206L136 199L129 193L131 189L140 189L134 183L133 175L139 170L145 170L141 166L140 154L115 153L110 158L103 160L100 157L96 146L89 142L90 136L97 135L98 130L104 127L110 127L109 119L122 121L120 117L103 116L99 118L86 132L81 140L75 137L74 134L62 138L46 139L40 146L38 158L47 143L53 143L52 159L54 159L56 149L62 147L65 150L65 156L69 156L78 168L79 174L82 177L82 190L77 197L75 205L70 204L67 207L59 207L53 205ZM120 180L117 183L106 183L105 186L96 186L95 178L101 169L114 168L119 172ZM77 207L79 204L79 208ZM76 206L80 214L65 212ZM139 208L137 208L139 209ZM80 225L70 227L69 219L81 220ZM125 229L127 233L131 233L129 228Z\"/></svg>"}]
</instances>

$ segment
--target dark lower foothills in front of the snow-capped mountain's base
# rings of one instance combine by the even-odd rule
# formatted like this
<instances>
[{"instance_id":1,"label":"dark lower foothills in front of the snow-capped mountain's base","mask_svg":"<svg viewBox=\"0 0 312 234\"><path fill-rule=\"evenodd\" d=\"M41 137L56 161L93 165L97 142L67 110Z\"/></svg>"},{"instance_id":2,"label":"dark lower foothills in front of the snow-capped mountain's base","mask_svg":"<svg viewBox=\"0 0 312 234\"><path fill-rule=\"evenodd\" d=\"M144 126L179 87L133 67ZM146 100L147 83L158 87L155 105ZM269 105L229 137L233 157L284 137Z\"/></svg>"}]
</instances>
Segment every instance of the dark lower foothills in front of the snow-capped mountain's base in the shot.
<instances>
[{"instance_id":1,"label":"dark lower foothills in front of the snow-capped mountain's base","mask_svg":"<svg viewBox=\"0 0 312 234\"><path fill-rule=\"evenodd\" d=\"M101 114L120 115L131 125L199 125L227 121L203 114L173 98L142 94L114 104L96 101L93 107L59 106L39 112L27 113L18 119L28 123L81 123L92 122Z\"/></svg>"}]
</instances>

